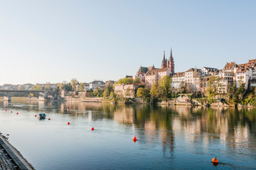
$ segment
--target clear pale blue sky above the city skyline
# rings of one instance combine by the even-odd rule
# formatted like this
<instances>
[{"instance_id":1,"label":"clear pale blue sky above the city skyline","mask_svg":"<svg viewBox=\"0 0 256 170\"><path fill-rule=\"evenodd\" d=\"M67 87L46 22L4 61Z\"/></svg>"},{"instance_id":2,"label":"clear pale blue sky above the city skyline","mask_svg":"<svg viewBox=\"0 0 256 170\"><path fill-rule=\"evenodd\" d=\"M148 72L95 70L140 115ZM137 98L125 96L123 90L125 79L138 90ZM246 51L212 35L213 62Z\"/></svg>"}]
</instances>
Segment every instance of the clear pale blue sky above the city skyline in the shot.
<instances>
[{"instance_id":1,"label":"clear pale blue sky above the city skyline","mask_svg":"<svg viewBox=\"0 0 256 170\"><path fill-rule=\"evenodd\" d=\"M0 1L1 84L118 80L256 58L256 1Z\"/></svg>"}]
</instances>

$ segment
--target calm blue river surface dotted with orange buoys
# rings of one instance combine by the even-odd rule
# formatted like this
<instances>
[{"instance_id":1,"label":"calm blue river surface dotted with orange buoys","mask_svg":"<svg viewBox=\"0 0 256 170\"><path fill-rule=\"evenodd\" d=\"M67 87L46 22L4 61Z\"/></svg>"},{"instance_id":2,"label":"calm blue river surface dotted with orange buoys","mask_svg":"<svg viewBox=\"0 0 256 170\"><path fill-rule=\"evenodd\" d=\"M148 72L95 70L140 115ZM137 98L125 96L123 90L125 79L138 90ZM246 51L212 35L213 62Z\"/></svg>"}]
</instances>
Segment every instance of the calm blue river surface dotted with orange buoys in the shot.
<instances>
[{"instance_id":1,"label":"calm blue river surface dotted with orange buoys","mask_svg":"<svg viewBox=\"0 0 256 170\"><path fill-rule=\"evenodd\" d=\"M256 167L254 109L56 101L0 107L0 131L35 169ZM38 120L38 113L51 120Z\"/></svg>"}]
</instances>

